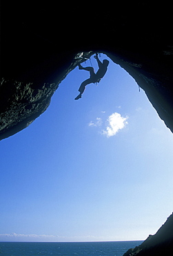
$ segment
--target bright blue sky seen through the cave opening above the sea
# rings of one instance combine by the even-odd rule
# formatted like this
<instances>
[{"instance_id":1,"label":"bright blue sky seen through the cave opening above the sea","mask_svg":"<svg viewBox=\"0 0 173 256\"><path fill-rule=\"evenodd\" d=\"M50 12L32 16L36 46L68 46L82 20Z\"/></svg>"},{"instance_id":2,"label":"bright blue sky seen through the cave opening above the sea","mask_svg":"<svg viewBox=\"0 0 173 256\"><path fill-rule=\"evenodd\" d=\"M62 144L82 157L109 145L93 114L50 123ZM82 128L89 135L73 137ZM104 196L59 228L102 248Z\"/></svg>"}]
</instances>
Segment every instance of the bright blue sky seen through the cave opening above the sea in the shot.
<instances>
[{"instance_id":1,"label":"bright blue sky seen through the cave opening above the sea","mask_svg":"<svg viewBox=\"0 0 173 256\"><path fill-rule=\"evenodd\" d=\"M0 241L146 239L172 213L172 133L119 65L74 100L87 78L75 68L45 113L1 140Z\"/></svg>"}]
</instances>

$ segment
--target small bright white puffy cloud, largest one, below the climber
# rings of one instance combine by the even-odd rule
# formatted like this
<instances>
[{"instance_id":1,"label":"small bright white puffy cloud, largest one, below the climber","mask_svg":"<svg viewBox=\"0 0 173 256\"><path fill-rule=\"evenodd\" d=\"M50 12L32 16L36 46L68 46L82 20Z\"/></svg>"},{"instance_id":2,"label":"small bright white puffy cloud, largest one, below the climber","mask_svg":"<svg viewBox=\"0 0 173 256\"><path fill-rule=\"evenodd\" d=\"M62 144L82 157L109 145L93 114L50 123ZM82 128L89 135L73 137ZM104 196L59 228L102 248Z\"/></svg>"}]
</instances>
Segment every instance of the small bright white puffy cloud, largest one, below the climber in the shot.
<instances>
[{"instance_id":1,"label":"small bright white puffy cloud, largest one, below the climber","mask_svg":"<svg viewBox=\"0 0 173 256\"><path fill-rule=\"evenodd\" d=\"M123 129L125 125L128 124L126 121L128 119L128 116L123 118L120 113L112 113L108 117L108 126L106 129L101 131L101 134L107 136L108 138L111 136L114 136L119 130Z\"/></svg>"}]
</instances>

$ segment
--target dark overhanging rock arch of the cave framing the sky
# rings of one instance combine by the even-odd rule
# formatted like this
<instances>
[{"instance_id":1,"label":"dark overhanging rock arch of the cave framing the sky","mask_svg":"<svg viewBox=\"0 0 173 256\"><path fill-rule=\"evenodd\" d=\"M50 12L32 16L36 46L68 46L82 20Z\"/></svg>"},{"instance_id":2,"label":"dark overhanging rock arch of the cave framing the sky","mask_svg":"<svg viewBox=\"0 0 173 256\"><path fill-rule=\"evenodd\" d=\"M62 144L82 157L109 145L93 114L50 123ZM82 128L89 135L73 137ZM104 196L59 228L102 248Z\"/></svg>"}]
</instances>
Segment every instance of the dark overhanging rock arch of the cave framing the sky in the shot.
<instances>
[{"instance_id":1,"label":"dark overhanging rock arch of the cave framing the sky","mask_svg":"<svg viewBox=\"0 0 173 256\"><path fill-rule=\"evenodd\" d=\"M134 77L173 131L171 3L35 2L1 3L0 140L40 116L81 53L95 52Z\"/></svg>"}]
</instances>

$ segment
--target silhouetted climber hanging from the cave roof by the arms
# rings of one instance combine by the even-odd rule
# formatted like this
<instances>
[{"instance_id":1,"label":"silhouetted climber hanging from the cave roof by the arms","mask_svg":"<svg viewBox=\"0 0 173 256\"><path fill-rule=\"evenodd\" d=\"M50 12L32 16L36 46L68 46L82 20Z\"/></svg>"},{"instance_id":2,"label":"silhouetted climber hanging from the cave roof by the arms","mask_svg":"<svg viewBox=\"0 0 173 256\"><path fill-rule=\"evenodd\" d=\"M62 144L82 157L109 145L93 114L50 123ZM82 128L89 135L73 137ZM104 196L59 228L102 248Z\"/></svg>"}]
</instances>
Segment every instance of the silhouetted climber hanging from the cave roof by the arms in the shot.
<instances>
[{"instance_id":1,"label":"silhouetted climber hanging from the cave roof by the arms","mask_svg":"<svg viewBox=\"0 0 173 256\"><path fill-rule=\"evenodd\" d=\"M79 87L79 95L77 95L77 98L75 98L74 100L79 100L82 97L82 93L85 90L85 86L87 84L92 84L92 83L98 83L100 82L101 78L105 75L107 69L108 69L108 65L109 65L109 61L108 60L103 60L103 63L99 60L98 57L98 53L96 53L96 55L94 56L94 58L96 59L98 66L99 66L99 70L94 73L94 68L92 68L92 66L87 66L85 68L83 68L83 66L81 66L81 64L79 64L79 69L83 69L85 71L89 71L90 72L90 78L88 78L87 80L83 81L81 83L81 86Z\"/></svg>"}]
</instances>

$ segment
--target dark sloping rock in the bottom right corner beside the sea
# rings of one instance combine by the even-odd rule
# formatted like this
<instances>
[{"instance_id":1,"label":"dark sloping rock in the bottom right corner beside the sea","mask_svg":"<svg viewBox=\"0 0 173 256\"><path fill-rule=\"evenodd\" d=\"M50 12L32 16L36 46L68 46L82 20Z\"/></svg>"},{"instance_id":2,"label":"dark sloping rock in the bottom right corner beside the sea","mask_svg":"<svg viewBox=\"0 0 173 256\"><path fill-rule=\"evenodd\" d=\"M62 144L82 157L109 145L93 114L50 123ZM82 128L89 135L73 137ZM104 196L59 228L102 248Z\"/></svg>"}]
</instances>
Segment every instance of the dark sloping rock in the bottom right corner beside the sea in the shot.
<instances>
[{"instance_id":1,"label":"dark sloping rock in the bottom right corner beside the sea","mask_svg":"<svg viewBox=\"0 0 173 256\"><path fill-rule=\"evenodd\" d=\"M155 235L149 235L143 244L128 250L123 256L173 255L173 214L159 228Z\"/></svg>"}]
</instances>

